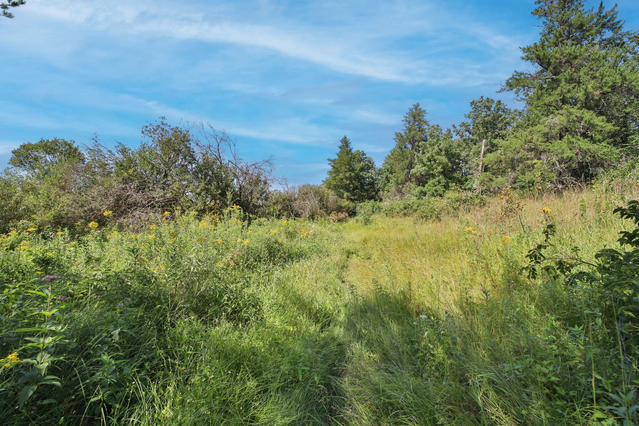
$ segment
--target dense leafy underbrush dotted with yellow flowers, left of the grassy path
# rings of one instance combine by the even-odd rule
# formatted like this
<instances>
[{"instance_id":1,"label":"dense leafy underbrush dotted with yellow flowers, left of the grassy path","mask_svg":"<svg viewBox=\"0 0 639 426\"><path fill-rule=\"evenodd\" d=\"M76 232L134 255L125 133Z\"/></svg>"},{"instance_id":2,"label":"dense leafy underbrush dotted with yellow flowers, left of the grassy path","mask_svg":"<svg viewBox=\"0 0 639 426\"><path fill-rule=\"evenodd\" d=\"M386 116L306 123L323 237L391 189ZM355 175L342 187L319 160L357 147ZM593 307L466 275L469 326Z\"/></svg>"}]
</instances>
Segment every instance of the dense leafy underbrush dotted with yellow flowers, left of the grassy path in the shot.
<instances>
[{"instance_id":1,"label":"dense leafy underbrush dotted with yellow flowers, left of the grassy path","mask_svg":"<svg viewBox=\"0 0 639 426\"><path fill-rule=\"evenodd\" d=\"M0 241L2 424L173 418L166 395L223 388L259 363L248 347L242 357L244 330L263 323L273 277L323 253L333 233L249 222L238 208L222 220L164 215L133 234L96 225Z\"/></svg>"}]
</instances>

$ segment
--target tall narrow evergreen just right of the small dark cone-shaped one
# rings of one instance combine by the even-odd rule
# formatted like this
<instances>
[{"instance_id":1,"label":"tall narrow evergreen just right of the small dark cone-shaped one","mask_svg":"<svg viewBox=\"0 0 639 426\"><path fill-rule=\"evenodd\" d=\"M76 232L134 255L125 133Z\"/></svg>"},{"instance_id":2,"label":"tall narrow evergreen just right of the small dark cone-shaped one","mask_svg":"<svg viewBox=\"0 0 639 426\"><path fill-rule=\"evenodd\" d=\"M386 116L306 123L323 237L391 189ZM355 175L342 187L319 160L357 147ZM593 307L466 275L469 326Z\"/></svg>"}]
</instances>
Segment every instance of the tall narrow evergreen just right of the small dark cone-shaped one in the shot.
<instances>
[{"instance_id":1,"label":"tall narrow evergreen just right of the small dark cone-shaped one","mask_svg":"<svg viewBox=\"0 0 639 426\"><path fill-rule=\"evenodd\" d=\"M430 125L426 120L426 110L420 107L419 102L408 109L402 121L404 130L396 132L395 146L381 166L381 175L386 189L396 193L403 193L405 185L418 183L416 180L419 177L411 171L419 146L427 140Z\"/></svg>"}]
</instances>

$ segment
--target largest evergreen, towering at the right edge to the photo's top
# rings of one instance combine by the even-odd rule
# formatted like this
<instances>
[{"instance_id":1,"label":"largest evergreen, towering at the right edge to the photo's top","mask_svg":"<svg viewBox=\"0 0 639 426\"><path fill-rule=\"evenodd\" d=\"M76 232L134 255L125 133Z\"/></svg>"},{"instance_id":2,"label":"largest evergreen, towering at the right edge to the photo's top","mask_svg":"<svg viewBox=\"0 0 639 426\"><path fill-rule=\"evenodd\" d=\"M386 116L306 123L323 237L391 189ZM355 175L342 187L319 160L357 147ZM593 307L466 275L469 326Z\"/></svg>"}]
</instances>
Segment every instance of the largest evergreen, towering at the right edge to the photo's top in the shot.
<instances>
[{"instance_id":1,"label":"largest evergreen, towering at the right edge to the photo's top","mask_svg":"<svg viewBox=\"0 0 639 426\"><path fill-rule=\"evenodd\" d=\"M623 31L615 7L535 3L541 37L522 49L534 70L515 72L502 88L525 101L527 114L486 164L501 174L500 184L587 182L636 139L638 36Z\"/></svg>"}]
</instances>

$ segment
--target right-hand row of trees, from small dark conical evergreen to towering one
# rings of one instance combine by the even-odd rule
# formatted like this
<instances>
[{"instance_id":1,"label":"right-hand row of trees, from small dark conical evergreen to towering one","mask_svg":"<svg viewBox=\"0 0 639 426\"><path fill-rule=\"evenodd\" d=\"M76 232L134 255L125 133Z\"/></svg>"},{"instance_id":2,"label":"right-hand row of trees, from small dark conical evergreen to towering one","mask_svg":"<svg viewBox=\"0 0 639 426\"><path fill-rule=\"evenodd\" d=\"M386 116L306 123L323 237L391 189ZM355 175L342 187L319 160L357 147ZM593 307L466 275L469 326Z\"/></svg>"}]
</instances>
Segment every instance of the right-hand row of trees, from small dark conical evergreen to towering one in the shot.
<instances>
[{"instance_id":1,"label":"right-hand row of trees, from small dark conical evergreen to towering one","mask_svg":"<svg viewBox=\"0 0 639 426\"><path fill-rule=\"evenodd\" d=\"M540 38L521 49L531 70L514 72L501 89L514 92L523 110L482 96L465 121L443 130L414 104L380 168L344 137L325 186L356 203L506 186L548 191L589 184L636 159L638 33L624 31L615 7L536 3Z\"/></svg>"}]
</instances>

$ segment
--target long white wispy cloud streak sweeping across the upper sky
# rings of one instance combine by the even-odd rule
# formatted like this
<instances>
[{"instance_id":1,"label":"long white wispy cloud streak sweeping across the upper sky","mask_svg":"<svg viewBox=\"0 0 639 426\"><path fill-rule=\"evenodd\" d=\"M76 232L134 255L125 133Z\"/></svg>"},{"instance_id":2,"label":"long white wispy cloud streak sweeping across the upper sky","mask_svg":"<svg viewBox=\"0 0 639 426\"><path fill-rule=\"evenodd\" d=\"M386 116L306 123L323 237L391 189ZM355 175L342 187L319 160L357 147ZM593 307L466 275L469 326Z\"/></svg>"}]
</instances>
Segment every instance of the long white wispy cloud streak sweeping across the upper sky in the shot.
<instances>
[{"instance_id":1,"label":"long white wispy cloud streak sweeping across the upper sky","mask_svg":"<svg viewBox=\"0 0 639 426\"><path fill-rule=\"evenodd\" d=\"M348 24L337 22L329 28L277 15L262 17L266 22L273 19L273 24L250 22L237 10L210 4L200 4L196 12L189 11L195 10L193 6L176 10L173 2L164 1L33 0L33 4L33 12L47 19L86 25L118 35L256 47L344 74L381 81L478 84L487 78L485 73L459 63L450 64L443 70L445 61L431 56L440 46L425 45L423 53L415 56L414 51L404 52L393 45L406 35L433 34L434 40L439 36L438 30L443 28L442 21L447 18L443 15L447 12L423 2L410 6L380 6L380 10L369 13L365 19L353 19ZM348 12L357 12L357 6ZM429 19L424 18L425 12L429 12ZM485 26L452 24L452 28L456 29L459 39L470 35L475 42L493 49L502 49L511 42Z\"/></svg>"}]
</instances>

